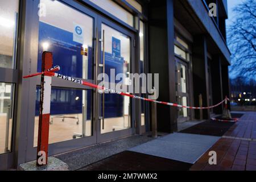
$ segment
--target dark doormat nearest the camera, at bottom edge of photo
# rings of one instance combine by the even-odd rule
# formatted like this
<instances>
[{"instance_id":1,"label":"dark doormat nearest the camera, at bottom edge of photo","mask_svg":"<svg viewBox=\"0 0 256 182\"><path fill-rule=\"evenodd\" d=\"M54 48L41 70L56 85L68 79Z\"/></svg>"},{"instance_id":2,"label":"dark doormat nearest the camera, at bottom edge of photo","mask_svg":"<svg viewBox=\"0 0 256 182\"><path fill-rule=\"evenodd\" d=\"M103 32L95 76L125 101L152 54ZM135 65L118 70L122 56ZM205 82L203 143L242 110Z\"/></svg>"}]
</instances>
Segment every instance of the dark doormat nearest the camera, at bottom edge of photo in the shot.
<instances>
[{"instance_id":1,"label":"dark doormat nearest the camera, at bottom edge of photo","mask_svg":"<svg viewBox=\"0 0 256 182\"><path fill-rule=\"evenodd\" d=\"M124 151L99 162L90 164L81 171L187 171L192 164L157 156Z\"/></svg>"}]
</instances>

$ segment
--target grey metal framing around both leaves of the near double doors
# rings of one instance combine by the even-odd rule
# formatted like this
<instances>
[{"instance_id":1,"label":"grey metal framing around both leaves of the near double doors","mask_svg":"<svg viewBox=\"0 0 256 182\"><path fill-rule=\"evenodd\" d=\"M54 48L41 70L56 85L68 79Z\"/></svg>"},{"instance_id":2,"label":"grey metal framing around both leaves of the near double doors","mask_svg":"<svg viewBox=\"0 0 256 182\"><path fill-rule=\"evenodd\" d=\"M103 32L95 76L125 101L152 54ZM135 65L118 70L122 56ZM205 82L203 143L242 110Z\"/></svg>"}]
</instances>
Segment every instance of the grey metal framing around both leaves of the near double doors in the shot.
<instances>
[{"instance_id":1,"label":"grey metal framing around both leaves of the near double doors","mask_svg":"<svg viewBox=\"0 0 256 182\"><path fill-rule=\"evenodd\" d=\"M40 0L35 0L28 3L28 6L33 10L29 14L35 15L31 16L33 18L29 18L29 21L26 23L26 27L33 27L31 30L27 30L25 34L27 35L26 44L33 44L33 47L31 49L24 48L24 63L30 67L29 69L26 69L23 71L23 75L28 75L30 73L37 72L37 62L38 62L38 36L39 36L39 18L36 16L38 13L38 4ZM89 82L94 82L96 84L96 67L97 60L100 60L100 51L98 51L98 55L96 55L96 47L100 48L100 43L98 43L96 35L101 35L101 22L104 22L108 26L114 28L115 30L118 30L122 32L123 34L126 34L130 36L131 38L131 65L135 64L135 48L133 47L133 41L135 39L135 33L128 31L126 28L122 28L117 23L112 22L111 20L104 18L102 15L95 13L93 10L89 9L86 6L81 6L80 3L69 0L59 0L59 2L64 3L65 5L71 7L72 9L75 9L77 11L80 11L80 13L88 15L94 19L94 36L93 36L93 61L94 61L94 68L93 68L93 76L94 80L86 80ZM28 10L27 10L28 11ZM29 36L28 36L29 35ZM98 50L100 50L98 49ZM131 72L134 71L133 67L131 67ZM26 135L26 139L22 141L24 144L24 156L18 160L23 162L28 162L31 160L36 159L36 147L34 147L34 126L35 126L35 98L36 98L36 86L40 85L40 77L31 78L29 80L23 81L23 85L26 82L26 90L27 90L27 97L26 101L23 101L24 103L22 105L26 105L27 109L27 119L24 118L26 121L22 121L23 124L26 126L23 128L23 132ZM84 86L73 84L72 82L63 82L61 80L58 80L57 78L52 79L52 86L59 86L62 88L74 88L74 89L85 89ZM22 86L23 87L23 86ZM92 89L92 88L86 88L86 89ZM92 89L93 90L93 89ZM26 103L25 103L26 102ZM86 146L92 146L96 143L106 142L108 140L125 137L128 135L134 134L134 112L131 111L130 108L130 121L131 121L131 128L121 131L114 131L111 133L106 134L100 134L100 125L98 125L98 115L97 115L97 109L100 107L100 104L97 103L97 91L93 91L93 100L92 100L92 136L91 137L83 137L83 138L77 138L77 139L71 139L66 140L63 142L58 143L52 143L49 144L48 148L48 155L57 155L61 154L62 152L77 150L82 147ZM135 107L134 102L130 100L130 107ZM22 133L23 133L22 132ZM19 147L22 144L19 144Z\"/></svg>"}]
</instances>

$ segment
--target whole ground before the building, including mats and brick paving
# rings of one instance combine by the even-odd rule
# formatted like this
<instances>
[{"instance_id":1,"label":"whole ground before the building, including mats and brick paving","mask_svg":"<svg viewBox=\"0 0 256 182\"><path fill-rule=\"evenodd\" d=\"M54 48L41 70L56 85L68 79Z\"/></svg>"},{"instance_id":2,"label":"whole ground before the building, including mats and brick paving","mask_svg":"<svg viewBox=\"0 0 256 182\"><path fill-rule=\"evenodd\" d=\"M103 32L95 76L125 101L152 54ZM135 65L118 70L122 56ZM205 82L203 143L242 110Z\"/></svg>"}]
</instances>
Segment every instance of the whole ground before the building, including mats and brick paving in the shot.
<instances>
[{"instance_id":1,"label":"whole ground before the building, including mats and brick paving","mask_svg":"<svg viewBox=\"0 0 256 182\"><path fill-rule=\"evenodd\" d=\"M69 169L81 171L256 170L256 112L246 112L236 123L204 121L158 139L147 135L133 135L56 157ZM212 150L217 152L217 165L208 163Z\"/></svg>"}]
</instances>

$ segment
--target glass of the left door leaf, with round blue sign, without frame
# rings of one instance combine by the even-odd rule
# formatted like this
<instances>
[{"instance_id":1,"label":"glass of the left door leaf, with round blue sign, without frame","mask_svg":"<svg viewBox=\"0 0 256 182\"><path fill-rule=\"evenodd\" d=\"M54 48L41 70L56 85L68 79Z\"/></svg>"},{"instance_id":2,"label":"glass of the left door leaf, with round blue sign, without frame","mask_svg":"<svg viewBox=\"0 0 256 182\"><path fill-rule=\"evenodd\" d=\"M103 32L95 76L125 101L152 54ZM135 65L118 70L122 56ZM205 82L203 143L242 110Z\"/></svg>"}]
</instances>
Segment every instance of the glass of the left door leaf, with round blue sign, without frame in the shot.
<instances>
[{"instance_id":1,"label":"glass of the left door leaf, with round blue sign, without frame","mask_svg":"<svg viewBox=\"0 0 256 182\"><path fill-rule=\"evenodd\" d=\"M50 51L53 65L60 66L58 73L92 81L94 19L59 1L40 3L46 7L46 15L39 18L38 72L42 69L43 51ZM49 143L91 136L92 90L58 81L51 90ZM36 96L34 146L38 138L39 86Z\"/></svg>"}]
</instances>

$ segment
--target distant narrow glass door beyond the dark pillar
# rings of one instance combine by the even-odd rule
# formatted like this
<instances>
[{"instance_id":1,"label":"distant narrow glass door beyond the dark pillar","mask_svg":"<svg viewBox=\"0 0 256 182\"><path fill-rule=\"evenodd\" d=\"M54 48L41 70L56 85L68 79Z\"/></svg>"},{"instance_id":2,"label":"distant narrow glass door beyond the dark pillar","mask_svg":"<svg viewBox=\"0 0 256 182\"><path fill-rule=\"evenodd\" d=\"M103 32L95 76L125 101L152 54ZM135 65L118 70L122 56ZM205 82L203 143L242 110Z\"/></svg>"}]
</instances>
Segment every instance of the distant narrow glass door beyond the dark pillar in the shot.
<instances>
[{"instance_id":1,"label":"distant narrow glass door beyond the dark pillar","mask_svg":"<svg viewBox=\"0 0 256 182\"><path fill-rule=\"evenodd\" d=\"M188 78L187 64L176 61L176 97L179 105L188 105ZM188 109L178 107L178 122L184 122L189 119Z\"/></svg>"}]
</instances>

